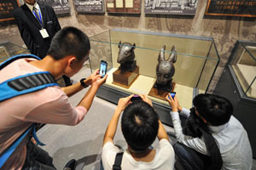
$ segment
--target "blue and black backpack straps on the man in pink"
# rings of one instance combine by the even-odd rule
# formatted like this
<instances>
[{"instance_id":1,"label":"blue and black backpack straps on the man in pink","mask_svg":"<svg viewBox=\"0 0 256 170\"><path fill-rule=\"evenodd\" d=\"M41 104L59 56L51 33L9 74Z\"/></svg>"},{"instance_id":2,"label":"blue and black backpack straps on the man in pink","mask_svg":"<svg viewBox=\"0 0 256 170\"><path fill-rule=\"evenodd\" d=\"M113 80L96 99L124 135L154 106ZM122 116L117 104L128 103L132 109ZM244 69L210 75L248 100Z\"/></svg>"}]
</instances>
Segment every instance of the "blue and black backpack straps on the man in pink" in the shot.
<instances>
[{"instance_id":1,"label":"blue and black backpack straps on the man in pink","mask_svg":"<svg viewBox=\"0 0 256 170\"><path fill-rule=\"evenodd\" d=\"M23 58L39 59L36 55L32 55L32 54L17 55L15 57L12 57L4 61L0 65L0 71L5 66L9 65L11 62L15 61L16 59L23 59ZM59 86L59 85L58 83L55 82L55 78L49 73L49 71L39 71L39 72L22 75L19 77L14 77L5 82L0 83L0 102L6 99L11 99L16 96L20 96L22 94L29 94L29 93L38 91L43 88L51 87L51 86ZM22 133L18 139L15 140L15 142L11 144L9 148L3 152L3 155L0 156L0 169L3 167L3 164L9 159L9 156L13 154L13 152L15 151L17 146L20 144L20 142L31 131L37 143L39 145L45 145L41 143L37 137L36 126L37 126L37 123L32 123L32 125L28 127L26 131Z\"/></svg>"}]
</instances>

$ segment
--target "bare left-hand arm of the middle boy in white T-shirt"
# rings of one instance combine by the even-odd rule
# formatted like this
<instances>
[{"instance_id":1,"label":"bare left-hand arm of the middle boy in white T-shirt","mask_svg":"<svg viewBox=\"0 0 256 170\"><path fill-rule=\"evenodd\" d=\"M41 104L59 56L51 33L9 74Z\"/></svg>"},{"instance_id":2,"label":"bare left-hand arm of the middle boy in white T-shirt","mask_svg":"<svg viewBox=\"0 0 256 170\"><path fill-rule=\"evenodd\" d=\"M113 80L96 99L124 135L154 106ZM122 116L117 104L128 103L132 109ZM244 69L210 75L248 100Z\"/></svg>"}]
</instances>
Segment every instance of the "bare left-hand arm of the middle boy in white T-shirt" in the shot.
<instances>
[{"instance_id":1,"label":"bare left-hand arm of the middle boy in white T-shirt","mask_svg":"<svg viewBox=\"0 0 256 170\"><path fill-rule=\"evenodd\" d=\"M116 128L119 122L119 116L121 112L125 110L125 107L131 103L130 99L132 96L133 94L126 98L119 99L119 104L113 113L112 119L108 123L108 127L106 129L103 139L103 145L106 144L107 142L113 143L113 137L115 135Z\"/></svg>"}]
</instances>

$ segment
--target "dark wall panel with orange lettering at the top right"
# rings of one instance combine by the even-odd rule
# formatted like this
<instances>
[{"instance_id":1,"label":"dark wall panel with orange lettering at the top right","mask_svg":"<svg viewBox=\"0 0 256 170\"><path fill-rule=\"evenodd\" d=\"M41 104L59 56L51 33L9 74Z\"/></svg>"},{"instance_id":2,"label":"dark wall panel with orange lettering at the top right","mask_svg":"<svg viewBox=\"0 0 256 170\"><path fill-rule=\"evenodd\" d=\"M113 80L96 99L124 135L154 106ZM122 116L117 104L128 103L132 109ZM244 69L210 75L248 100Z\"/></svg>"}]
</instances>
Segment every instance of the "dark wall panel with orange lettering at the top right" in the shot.
<instances>
[{"instance_id":1,"label":"dark wall panel with orange lettering at the top right","mask_svg":"<svg viewBox=\"0 0 256 170\"><path fill-rule=\"evenodd\" d=\"M255 0L208 0L206 15L256 17Z\"/></svg>"}]
</instances>

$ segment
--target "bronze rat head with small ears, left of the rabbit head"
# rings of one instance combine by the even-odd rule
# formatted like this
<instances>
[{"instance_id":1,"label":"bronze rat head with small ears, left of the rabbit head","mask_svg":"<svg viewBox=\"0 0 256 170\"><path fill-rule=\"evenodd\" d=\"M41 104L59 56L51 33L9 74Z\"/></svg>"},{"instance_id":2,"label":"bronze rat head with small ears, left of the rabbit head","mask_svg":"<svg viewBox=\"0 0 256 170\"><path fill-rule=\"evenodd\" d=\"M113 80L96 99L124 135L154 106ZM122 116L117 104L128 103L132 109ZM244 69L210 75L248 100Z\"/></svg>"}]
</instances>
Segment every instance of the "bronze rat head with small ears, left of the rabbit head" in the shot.
<instances>
[{"instance_id":1,"label":"bronze rat head with small ears, left of the rabbit head","mask_svg":"<svg viewBox=\"0 0 256 170\"><path fill-rule=\"evenodd\" d=\"M136 44L131 45L130 42L119 42L119 55L117 62L120 64L120 69L124 71L133 71L137 65L134 60L135 54L134 49Z\"/></svg>"}]
</instances>

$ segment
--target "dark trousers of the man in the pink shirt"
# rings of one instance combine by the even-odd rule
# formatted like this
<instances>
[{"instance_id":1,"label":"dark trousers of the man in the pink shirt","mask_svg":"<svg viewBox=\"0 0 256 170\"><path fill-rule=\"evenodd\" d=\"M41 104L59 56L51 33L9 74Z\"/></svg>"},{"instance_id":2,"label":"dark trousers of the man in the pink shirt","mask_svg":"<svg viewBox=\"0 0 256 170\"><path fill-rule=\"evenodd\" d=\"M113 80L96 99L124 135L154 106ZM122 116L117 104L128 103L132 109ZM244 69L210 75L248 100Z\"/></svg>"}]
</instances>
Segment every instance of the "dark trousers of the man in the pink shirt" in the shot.
<instances>
[{"instance_id":1,"label":"dark trousers of the man in the pink shirt","mask_svg":"<svg viewBox=\"0 0 256 170\"><path fill-rule=\"evenodd\" d=\"M26 144L26 161L22 170L56 170L53 159L31 140Z\"/></svg>"}]
</instances>

